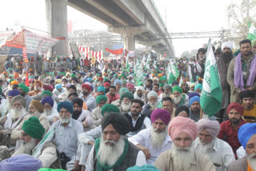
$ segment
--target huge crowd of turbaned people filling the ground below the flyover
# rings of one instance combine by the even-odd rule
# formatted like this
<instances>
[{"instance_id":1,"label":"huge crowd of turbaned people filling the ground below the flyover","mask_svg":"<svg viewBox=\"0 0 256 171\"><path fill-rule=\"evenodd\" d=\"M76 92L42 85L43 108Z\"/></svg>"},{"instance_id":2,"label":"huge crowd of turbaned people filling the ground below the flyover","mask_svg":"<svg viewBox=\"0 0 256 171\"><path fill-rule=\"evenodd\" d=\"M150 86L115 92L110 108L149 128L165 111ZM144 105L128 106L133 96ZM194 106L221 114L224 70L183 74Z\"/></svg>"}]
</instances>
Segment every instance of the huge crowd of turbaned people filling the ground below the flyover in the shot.
<instances>
[{"instance_id":1,"label":"huge crowd of turbaned people filling the ground below the flyover","mask_svg":"<svg viewBox=\"0 0 256 171\"><path fill-rule=\"evenodd\" d=\"M180 74L173 82L170 60L152 55L139 82L136 58L7 58L0 171L256 171L255 44L215 50L222 107L213 117L200 105L204 48L171 61Z\"/></svg>"}]
</instances>

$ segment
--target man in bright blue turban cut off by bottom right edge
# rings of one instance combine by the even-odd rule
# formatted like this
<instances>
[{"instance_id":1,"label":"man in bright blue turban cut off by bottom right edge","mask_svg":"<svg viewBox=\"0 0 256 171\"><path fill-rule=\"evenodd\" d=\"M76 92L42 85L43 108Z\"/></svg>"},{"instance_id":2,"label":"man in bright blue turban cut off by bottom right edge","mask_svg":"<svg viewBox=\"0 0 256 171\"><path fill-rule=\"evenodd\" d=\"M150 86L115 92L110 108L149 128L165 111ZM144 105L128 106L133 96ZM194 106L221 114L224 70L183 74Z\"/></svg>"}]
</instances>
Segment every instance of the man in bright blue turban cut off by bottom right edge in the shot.
<instances>
[{"instance_id":1,"label":"man in bright blue turban cut off by bottom right edge","mask_svg":"<svg viewBox=\"0 0 256 171\"><path fill-rule=\"evenodd\" d=\"M238 139L244 149L246 157L242 157L230 163L228 171L248 171L256 169L255 145L256 145L256 124L247 123L238 130Z\"/></svg>"}]
</instances>

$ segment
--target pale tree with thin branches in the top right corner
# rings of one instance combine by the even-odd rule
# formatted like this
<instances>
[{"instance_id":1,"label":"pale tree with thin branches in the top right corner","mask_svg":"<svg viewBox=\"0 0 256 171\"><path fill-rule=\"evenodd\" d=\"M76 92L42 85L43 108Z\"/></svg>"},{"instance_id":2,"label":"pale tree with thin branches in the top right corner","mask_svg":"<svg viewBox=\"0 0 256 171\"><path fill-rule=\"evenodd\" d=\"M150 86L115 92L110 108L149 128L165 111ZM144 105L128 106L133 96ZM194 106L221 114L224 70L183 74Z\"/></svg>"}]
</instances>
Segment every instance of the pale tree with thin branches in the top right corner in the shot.
<instances>
[{"instance_id":1,"label":"pale tree with thin branches in the top right corner","mask_svg":"<svg viewBox=\"0 0 256 171\"><path fill-rule=\"evenodd\" d=\"M256 0L241 0L240 3L232 2L226 10L230 34L239 39L246 38L248 22L256 23Z\"/></svg>"}]
</instances>

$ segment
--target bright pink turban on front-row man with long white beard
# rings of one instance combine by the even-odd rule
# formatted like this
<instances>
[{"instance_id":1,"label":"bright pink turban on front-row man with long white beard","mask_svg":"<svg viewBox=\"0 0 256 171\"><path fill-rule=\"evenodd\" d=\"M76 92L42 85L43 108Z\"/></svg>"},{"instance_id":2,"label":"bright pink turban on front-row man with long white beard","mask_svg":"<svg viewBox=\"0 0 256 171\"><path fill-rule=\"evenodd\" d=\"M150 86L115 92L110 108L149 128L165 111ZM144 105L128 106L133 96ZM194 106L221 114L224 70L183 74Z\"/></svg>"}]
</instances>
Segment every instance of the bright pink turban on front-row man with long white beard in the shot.
<instances>
[{"instance_id":1,"label":"bright pink turban on front-row man with long white beard","mask_svg":"<svg viewBox=\"0 0 256 171\"><path fill-rule=\"evenodd\" d=\"M174 117L168 125L168 134L171 139L174 139L178 136L179 133L188 134L192 140L198 136L198 126L196 123L187 117Z\"/></svg>"}]
</instances>

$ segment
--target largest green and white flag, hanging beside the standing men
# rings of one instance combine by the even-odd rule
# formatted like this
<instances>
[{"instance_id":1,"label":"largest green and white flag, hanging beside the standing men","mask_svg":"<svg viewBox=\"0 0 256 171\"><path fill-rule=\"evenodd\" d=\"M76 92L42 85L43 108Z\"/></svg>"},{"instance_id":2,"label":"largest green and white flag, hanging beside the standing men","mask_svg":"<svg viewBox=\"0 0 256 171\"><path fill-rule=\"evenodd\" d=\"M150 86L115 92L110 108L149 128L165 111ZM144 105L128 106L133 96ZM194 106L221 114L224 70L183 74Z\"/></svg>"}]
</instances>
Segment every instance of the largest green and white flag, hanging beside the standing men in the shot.
<instances>
[{"instance_id":1,"label":"largest green and white flag, hanging beside the standing men","mask_svg":"<svg viewBox=\"0 0 256 171\"><path fill-rule=\"evenodd\" d=\"M215 113L222 107L222 86L219 79L218 67L214 58L214 51L209 40L206 56L205 74L202 82L202 94L200 105L202 110L209 116L214 116Z\"/></svg>"}]
</instances>

